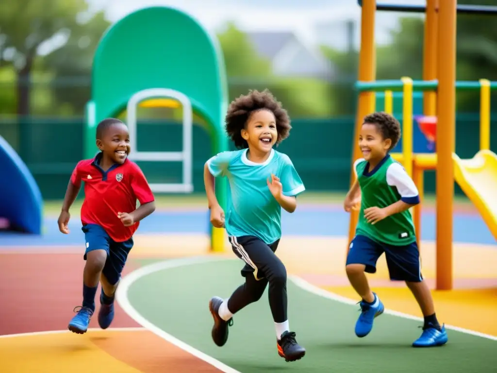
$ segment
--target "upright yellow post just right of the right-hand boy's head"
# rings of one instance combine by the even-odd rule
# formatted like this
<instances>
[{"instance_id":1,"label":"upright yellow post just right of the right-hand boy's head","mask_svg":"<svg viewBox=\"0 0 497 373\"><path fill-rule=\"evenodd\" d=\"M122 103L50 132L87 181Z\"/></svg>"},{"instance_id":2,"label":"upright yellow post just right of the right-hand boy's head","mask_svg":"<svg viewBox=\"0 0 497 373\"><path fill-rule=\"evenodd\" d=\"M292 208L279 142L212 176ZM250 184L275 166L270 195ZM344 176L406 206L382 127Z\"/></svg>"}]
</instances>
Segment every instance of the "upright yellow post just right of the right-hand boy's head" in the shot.
<instances>
[{"instance_id":1,"label":"upright yellow post just right of the right-hand boy's head","mask_svg":"<svg viewBox=\"0 0 497 373\"><path fill-rule=\"evenodd\" d=\"M402 158L407 174L413 177L413 80L402 78Z\"/></svg>"}]
</instances>

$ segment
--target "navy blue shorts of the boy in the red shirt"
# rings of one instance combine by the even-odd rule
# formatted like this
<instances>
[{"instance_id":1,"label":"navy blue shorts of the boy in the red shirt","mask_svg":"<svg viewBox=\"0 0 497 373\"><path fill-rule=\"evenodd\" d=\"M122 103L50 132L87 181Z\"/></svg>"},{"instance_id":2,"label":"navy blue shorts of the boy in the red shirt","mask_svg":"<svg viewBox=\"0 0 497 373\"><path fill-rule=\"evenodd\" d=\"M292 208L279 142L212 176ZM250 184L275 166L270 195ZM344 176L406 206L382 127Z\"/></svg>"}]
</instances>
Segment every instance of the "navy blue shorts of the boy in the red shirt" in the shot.
<instances>
[{"instance_id":1,"label":"navy blue shorts of the boy in the red shirt","mask_svg":"<svg viewBox=\"0 0 497 373\"><path fill-rule=\"evenodd\" d=\"M86 260L86 254L90 251L105 250L107 260L105 261L102 275L111 285L115 285L121 278L128 254L133 247L133 238L124 242L115 242L105 232L105 229L97 224L86 224L81 229L84 232L84 240L86 241L86 251L83 259Z\"/></svg>"}]
</instances>

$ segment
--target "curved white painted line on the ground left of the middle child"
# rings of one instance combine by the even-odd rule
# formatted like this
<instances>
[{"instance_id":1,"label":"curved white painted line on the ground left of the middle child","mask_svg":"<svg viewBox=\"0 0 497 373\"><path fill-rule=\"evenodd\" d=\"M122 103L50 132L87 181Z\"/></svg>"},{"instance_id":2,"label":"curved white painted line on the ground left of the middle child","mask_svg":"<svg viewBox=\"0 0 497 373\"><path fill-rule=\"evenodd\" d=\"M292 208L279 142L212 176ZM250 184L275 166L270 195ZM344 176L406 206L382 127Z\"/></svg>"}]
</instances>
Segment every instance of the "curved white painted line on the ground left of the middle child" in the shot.
<instances>
[{"instance_id":1,"label":"curved white painted line on the ground left of the middle child","mask_svg":"<svg viewBox=\"0 0 497 373\"><path fill-rule=\"evenodd\" d=\"M150 330L152 333L171 343L172 345L179 347L180 349L186 351L187 353L195 356L196 358L203 360L204 362L212 365L213 367L219 369L225 373L240 373L231 367L221 363L219 360L204 354L203 352L193 348L192 346L180 341L179 339L173 337L172 335L166 333L164 330L158 326L151 323L145 317L143 317L130 303L128 299L128 291L131 285L141 279L142 277L151 275L155 272L164 271L171 268L177 268L182 266L190 266L197 263L207 263L212 261L223 261L226 258L216 258L216 257L190 257L181 259L172 259L164 262L154 263L149 266L139 268L136 271L131 272L127 276L123 277L117 287L116 300L121 306L121 308L137 323L143 327Z\"/></svg>"}]
</instances>

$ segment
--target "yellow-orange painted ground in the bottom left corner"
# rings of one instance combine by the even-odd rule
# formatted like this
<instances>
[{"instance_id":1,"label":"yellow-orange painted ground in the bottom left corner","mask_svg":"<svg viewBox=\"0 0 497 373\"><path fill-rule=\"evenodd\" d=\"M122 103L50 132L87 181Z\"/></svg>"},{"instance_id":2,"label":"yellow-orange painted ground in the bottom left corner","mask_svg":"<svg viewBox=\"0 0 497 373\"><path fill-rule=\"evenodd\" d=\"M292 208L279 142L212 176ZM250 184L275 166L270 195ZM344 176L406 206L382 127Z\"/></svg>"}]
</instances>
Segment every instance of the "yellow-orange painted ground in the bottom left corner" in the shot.
<instances>
[{"instance_id":1,"label":"yellow-orange painted ground in the bottom left corner","mask_svg":"<svg viewBox=\"0 0 497 373\"><path fill-rule=\"evenodd\" d=\"M5 373L216 373L217 368L141 328L0 337Z\"/></svg>"}]
</instances>

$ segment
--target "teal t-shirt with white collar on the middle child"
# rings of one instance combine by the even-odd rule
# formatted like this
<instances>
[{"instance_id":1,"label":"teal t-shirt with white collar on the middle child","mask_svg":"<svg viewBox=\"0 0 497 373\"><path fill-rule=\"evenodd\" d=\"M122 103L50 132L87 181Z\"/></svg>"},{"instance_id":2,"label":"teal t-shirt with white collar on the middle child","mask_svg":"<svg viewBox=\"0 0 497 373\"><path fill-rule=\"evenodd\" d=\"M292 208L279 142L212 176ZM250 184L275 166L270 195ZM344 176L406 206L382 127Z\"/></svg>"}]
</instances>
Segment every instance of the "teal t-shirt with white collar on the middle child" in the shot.
<instances>
[{"instance_id":1,"label":"teal t-shirt with white collar on the middle child","mask_svg":"<svg viewBox=\"0 0 497 373\"><path fill-rule=\"evenodd\" d=\"M272 196L266 180L280 178L283 194L297 195L305 190L290 158L272 149L264 163L247 158L248 149L217 154L207 161L214 177L228 178L225 226L231 236L255 236L266 244L281 238L281 206Z\"/></svg>"}]
</instances>

